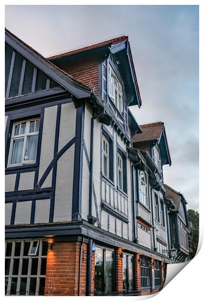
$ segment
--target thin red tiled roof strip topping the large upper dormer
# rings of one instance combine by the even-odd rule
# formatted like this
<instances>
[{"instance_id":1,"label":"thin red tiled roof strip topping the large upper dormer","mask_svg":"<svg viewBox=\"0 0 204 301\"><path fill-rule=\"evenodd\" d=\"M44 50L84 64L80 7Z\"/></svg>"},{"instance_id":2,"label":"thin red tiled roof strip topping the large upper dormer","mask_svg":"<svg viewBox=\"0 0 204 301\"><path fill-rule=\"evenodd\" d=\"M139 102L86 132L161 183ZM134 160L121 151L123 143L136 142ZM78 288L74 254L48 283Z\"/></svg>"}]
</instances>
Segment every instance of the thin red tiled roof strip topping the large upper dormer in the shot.
<instances>
[{"instance_id":1,"label":"thin red tiled roof strip topping the large upper dormer","mask_svg":"<svg viewBox=\"0 0 204 301\"><path fill-rule=\"evenodd\" d=\"M58 54L58 55L53 55L53 56L48 57L47 60L58 59L58 58L61 58L63 56L67 56L67 55L70 55L70 54L75 54L75 53L91 50L91 49L102 47L102 46L105 46L105 45L108 45L108 44L119 43L119 42L125 41L127 39L128 39L128 36L125 36L125 35L119 36L117 38L110 39L110 40L107 40L107 41L103 41L103 42L98 43L98 44L86 46L86 47L83 47L83 48L80 48L80 49L71 50L71 51L61 53L61 54Z\"/></svg>"}]
</instances>

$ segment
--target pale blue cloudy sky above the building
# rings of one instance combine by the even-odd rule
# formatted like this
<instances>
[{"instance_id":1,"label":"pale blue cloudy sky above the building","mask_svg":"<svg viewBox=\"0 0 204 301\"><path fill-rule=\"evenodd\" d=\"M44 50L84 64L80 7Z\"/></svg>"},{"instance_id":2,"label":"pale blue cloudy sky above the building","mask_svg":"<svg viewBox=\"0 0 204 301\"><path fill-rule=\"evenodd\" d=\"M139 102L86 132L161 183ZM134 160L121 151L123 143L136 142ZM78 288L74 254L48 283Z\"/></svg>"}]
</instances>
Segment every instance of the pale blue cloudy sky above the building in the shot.
<instances>
[{"instance_id":1,"label":"pale blue cloudy sky above the building","mask_svg":"<svg viewBox=\"0 0 204 301\"><path fill-rule=\"evenodd\" d=\"M131 111L139 124L164 122L164 182L199 210L198 6L8 5L5 26L45 57L128 35L142 100Z\"/></svg>"}]
</instances>

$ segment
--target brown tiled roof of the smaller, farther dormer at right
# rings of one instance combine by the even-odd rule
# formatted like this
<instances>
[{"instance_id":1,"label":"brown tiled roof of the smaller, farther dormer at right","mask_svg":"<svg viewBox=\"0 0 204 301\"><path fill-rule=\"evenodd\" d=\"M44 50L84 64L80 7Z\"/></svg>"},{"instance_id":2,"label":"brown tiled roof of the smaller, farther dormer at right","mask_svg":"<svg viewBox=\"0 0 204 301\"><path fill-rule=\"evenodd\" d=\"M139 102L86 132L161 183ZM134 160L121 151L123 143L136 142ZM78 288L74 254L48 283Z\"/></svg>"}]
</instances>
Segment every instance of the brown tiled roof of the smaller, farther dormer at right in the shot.
<instances>
[{"instance_id":1,"label":"brown tiled roof of the smaller, farther dormer at right","mask_svg":"<svg viewBox=\"0 0 204 301\"><path fill-rule=\"evenodd\" d=\"M159 139L164 128L164 122L160 121L148 123L140 125L139 127L142 129L142 133L136 134L133 137L133 142L142 142Z\"/></svg>"}]
</instances>

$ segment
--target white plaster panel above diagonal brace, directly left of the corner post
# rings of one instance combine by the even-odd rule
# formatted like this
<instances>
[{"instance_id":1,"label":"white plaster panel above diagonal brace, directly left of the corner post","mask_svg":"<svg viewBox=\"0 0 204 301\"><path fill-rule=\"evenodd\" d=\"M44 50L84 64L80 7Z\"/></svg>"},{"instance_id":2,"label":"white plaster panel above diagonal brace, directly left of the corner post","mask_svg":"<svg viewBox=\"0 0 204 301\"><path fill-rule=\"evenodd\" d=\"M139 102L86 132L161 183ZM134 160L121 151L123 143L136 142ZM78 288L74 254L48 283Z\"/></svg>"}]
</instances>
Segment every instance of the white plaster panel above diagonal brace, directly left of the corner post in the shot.
<instances>
[{"instance_id":1,"label":"white plaster panel above diagonal brace, directly left of the corner post","mask_svg":"<svg viewBox=\"0 0 204 301\"><path fill-rule=\"evenodd\" d=\"M62 104L58 151L60 151L75 136L75 125L76 109L74 103Z\"/></svg>"}]
</instances>

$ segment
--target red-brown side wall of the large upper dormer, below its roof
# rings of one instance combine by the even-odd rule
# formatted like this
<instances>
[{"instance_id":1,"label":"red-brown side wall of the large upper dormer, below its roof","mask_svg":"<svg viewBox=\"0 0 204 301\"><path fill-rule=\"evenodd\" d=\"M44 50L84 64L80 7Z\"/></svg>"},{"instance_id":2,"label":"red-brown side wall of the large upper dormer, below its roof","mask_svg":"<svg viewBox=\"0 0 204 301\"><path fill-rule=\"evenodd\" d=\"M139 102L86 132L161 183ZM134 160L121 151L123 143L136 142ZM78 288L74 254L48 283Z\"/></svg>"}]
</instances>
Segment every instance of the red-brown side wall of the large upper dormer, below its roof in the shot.
<instances>
[{"instance_id":1,"label":"red-brown side wall of the large upper dormer, below its roof","mask_svg":"<svg viewBox=\"0 0 204 301\"><path fill-rule=\"evenodd\" d=\"M87 86L91 82L90 88L95 87L94 92L98 94L99 63L96 56L74 60L61 68Z\"/></svg>"}]
</instances>

